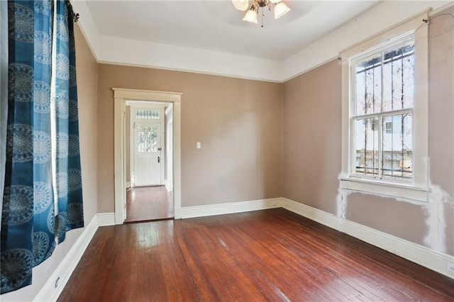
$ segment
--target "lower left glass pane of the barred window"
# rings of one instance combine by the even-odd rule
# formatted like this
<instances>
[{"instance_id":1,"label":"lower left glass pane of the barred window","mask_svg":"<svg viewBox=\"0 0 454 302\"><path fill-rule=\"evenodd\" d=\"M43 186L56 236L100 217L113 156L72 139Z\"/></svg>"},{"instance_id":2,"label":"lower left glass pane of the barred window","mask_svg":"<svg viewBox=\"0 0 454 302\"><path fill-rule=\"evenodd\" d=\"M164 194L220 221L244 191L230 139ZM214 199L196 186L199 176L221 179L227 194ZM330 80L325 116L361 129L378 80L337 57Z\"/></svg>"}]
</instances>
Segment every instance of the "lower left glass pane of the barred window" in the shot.
<instances>
[{"instance_id":1,"label":"lower left glass pane of the barred window","mask_svg":"<svg viewBox=\"0 0 454 302\"><path fill-rule=\"evenodd\" d=\"M378 118L355 120L355 174L378 175Z\"/></svg>"}]
</instances>

